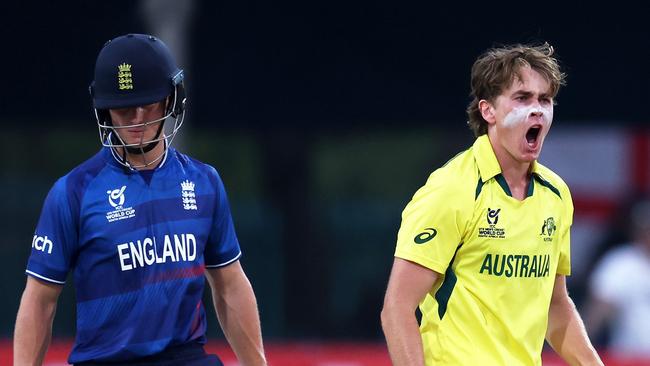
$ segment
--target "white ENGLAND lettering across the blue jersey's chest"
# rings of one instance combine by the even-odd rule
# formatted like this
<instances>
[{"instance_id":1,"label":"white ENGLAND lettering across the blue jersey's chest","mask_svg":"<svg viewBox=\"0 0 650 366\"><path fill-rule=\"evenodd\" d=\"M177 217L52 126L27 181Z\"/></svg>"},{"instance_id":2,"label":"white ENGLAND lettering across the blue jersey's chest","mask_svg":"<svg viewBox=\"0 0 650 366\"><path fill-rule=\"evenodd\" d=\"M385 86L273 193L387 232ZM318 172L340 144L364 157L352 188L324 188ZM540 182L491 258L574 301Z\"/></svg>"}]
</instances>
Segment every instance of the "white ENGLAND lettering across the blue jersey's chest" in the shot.
<instances>
[{"instance_id":1,"label":"white ENGLAND lettering across the blue jersey's chest","mask_svg":"<svg viewBox=\"0 0 650 366\"><path fill-rule=\"evenodd\" d=\"M196 259L196 238L193 234L165 235L163 243L162 256L158 254L155 237L118 244L120 268L130 271L159 263L191 262Z\"/></svg>"}]
</instances>

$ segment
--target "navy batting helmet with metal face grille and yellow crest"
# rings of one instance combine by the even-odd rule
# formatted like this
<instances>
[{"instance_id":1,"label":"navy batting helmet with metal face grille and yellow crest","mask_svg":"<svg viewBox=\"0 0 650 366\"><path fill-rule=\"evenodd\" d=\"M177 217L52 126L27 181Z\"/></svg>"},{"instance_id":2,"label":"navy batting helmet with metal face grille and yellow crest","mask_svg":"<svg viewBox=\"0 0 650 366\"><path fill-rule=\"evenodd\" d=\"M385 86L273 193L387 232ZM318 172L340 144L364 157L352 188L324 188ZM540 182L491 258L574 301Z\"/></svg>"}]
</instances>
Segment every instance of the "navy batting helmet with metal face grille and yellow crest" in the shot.
<instances>
[{"instance_id":1,"label":"navy batting helmet with metal face grille and yellow crest","mask_svg":"<svg viewBox=\"0 0 650 366\"><path fill-rule=\"evenodd\" d=\"M167 46L160 39L147 34L127 34L106 42L97 56L95 80L90 85L90 94L102 145L123 148L122 157L118 160L131 168L126 152L145 154L164 141L163 155L145 166L154 164L166 154L185 117L183 70L176 66ZM108 111L162 101L165 102L165 113L161 118L126 127L113 125ZM166 124L170 117L174 123ZM120 137L120 131L124 128L153 124L159 128L152 139L129 144Z\"/></svg>"}]
</instances>

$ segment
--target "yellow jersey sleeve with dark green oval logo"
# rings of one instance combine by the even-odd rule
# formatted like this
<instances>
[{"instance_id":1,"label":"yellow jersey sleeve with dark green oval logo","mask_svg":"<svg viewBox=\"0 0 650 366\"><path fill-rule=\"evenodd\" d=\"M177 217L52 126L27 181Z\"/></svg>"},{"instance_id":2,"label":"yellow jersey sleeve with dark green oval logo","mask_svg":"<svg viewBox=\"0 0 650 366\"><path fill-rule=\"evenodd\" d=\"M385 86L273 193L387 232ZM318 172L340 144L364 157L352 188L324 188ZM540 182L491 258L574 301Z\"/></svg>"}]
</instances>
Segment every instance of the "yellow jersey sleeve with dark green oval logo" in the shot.
<instances>
[{"instance_id":1,"label":"yellow jersey sleeve with dark green oval logo","mask_svg":"<svg viewBox=\"0 0 650 366\"><path fill-rule=\"evenodd\" d=\"M434 172L402 212L395 256L445 273L473 209L464 196L462 187L444 184Z\"/></svg>"}]
</instances>

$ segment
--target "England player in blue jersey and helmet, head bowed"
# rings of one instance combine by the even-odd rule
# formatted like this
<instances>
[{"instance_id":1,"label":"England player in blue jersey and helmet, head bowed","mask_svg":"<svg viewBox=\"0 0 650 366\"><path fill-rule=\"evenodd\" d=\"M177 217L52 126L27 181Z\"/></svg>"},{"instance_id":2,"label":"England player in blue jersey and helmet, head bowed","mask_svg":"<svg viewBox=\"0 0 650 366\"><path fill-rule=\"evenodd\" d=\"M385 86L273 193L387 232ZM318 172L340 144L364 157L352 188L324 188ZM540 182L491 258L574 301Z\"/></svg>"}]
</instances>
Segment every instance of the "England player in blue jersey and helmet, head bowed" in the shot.
<instances>
[{"instance_id":1,"label":"England player in blue jersey and helmet, head bowed","mask_svg":"<svg viewBox=\"0 0 650 366\"><path fill-rule=\"evenodd\" d=\"M91 87L103 148L60 178L38 221L16 320L15 365L43 363L72 272L75 365L221 365L203 349L205 278L242 365L265 365L257 302L217 171L171 147L183 71L165 44L107 42Z\"/></svg>"}]
</instances>

